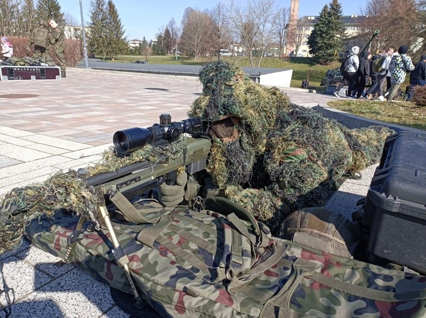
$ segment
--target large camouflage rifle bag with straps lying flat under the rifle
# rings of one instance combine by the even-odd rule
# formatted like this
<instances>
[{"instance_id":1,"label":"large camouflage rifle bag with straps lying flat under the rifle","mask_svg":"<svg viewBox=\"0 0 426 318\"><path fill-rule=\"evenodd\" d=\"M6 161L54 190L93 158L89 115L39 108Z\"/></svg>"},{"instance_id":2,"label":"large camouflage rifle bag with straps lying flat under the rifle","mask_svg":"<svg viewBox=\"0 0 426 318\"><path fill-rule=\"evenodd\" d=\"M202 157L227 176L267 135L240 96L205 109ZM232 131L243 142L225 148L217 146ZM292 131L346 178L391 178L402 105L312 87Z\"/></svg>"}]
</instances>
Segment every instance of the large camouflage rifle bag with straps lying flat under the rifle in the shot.
<instances>
[{"instance_id":1,"label":"large camouflage rifle bag with straps lying flat under the rifle","mask_svg":"<svg viewBox=\"0 0 426 318\"><path fill-rule=\"evenodd\" d=\"M140 213L146 207L134 206ZM426 277L270 237L248 213L226 207L157 211L144 215L156 220L146 224L113 219L131 276L161 316L426 317ZM34 214L26 236L63 258L77 221L63 211L54 219ZM108 238L103 227L84 227L71 262L130 293Z\"/></svg>"}]
</instances>

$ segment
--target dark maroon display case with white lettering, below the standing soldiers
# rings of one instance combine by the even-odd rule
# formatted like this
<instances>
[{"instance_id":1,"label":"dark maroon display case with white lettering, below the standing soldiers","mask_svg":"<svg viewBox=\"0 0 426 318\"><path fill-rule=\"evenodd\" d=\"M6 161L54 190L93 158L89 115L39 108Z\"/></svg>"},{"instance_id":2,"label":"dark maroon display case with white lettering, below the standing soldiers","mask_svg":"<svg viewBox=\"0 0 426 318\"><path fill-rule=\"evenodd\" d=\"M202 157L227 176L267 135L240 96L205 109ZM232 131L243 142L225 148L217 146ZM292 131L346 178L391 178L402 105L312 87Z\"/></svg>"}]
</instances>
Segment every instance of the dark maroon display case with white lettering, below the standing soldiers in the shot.
<instances>
[{"instance_id":1,"label":"dark maroon display case with white lettering, below the standing soldiers","mask_svg":"<svg viewBox=\"0 0 426 318\"><path fill-rule=\"evenodd\" d=\"M59 66L0 65L0 80L60 79Z\"/></svg>"}]
</instances>

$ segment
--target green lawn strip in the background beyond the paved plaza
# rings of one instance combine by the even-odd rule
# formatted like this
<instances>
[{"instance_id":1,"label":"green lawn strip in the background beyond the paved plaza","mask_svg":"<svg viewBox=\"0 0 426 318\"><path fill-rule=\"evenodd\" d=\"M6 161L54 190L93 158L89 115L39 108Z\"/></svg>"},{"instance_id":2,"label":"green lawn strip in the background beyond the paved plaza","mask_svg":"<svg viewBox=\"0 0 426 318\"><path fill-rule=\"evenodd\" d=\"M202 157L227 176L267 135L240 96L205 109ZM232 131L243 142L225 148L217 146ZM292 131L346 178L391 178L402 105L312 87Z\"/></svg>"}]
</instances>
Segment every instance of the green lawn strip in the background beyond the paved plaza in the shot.
<instances>
[{"instance_id":1,"label":"green lawn strip in the background beyond the paved plaza","mask_svg":"<svg viewBox=\"0 0 426 318\"><path fill-rule=\"evenodd\" d=\"M115 56L115 62L134 62L135 60L144 60L144 56ZM206 62L216 60L217 57L202 57L193 59L187 56L178 56L176 60L175 55L164 55L164 56L149 56L150 64L181 64L181 65L203 65ZM246 56L222 56L221 59L225 61L233 62L241 67L249 67L250 63ZM306 79L306 74L309 74L309 86L318 86L321 83L321 79L325 77L325 72L328 69L338 67L340 62L335 61L329 65L317 65L313 58L309 57L291 57L287 60L276 58L276 57L262 57L260 67L271 67L271 68L291 68L293 75L291 77L291 87L301 87L302 80ZM322 88L322 87L321 87ZM325 89L325 87L324 87Z\"/></svg>"}]
</instances>

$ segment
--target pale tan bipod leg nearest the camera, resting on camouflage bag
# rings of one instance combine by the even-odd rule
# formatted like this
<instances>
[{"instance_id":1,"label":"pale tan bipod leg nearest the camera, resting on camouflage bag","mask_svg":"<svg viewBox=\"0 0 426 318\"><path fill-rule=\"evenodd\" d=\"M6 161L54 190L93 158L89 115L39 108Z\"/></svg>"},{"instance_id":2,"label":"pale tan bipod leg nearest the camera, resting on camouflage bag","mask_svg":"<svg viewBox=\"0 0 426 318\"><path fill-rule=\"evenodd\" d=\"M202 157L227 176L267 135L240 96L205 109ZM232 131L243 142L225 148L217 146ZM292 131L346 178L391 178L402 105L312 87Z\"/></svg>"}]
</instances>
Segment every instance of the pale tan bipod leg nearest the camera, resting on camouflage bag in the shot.
<instances>
[{"instance_id":1,"label":"pale tan bipod leg nearest the camera, resting on camouflage bag","mask_svg":"<svg viewBox=\"0 0 426 318\"><path fill-rule=\"evenodd\" d=\"M114 256L117 265L124 270L128 283L130 284L131 291L134 295L134 299L136 300L136 306L141 308L143 307L143 301L141 296L137 292L136 286L134 285L134 282L133 282L133 278L130 275L130 269L128 267L129 260L127 258L127 255L125 255L124 252L122 251L120 244L118 243L118 239L115 235L114 228L112 227L111 220L109 219L109 213L105 207L104 202L103 202L103 205L102 204L99 205L99 209L100 209L100 215L103 219L103 223L106 226L106 230L109 233L109 238L111 239L112 245L114 247L114 249L111 250L112 255Z\"/></svg>"}]
</instances>

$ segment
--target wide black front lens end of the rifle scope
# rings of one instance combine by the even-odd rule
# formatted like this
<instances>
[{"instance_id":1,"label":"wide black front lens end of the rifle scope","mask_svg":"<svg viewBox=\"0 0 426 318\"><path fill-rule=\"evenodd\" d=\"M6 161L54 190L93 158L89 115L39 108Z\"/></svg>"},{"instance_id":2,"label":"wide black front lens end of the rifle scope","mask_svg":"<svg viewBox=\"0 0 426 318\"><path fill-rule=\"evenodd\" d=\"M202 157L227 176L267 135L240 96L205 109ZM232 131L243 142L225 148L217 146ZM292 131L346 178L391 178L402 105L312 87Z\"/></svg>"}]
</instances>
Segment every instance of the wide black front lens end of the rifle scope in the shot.
<instances>
[{"instance_id":1,"label":"wide black front lens end of the rifle scope","mask_svg":"<svg viewBox=\"0 0 426 318\"><path fill-rule=\"evenodd\" d=\"M153 137L150 129L134 127L116 131L112 137L112 142L118 153L126 154L142 148L151 142Z\"/></svg>"}]
</instances>

